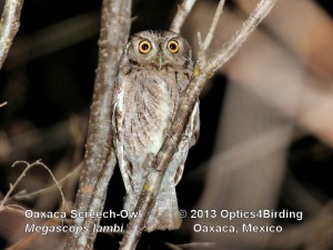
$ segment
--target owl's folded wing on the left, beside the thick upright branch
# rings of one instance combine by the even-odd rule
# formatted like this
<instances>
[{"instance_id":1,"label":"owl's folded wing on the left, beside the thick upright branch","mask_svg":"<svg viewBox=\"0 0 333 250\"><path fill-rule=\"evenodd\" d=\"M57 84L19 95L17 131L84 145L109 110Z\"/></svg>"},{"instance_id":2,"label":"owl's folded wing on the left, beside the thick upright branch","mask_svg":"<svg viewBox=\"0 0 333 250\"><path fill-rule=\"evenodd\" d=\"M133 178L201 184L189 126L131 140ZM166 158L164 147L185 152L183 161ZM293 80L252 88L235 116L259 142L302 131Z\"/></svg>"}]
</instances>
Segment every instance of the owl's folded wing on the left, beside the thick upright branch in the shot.
<instances>
[{"instance_id":1,"label":"owl's folded wing on the left, beside the thick upright branch","mask_svg":"<svg viewBox=\"0 0 333 250\"><path fill-rule=\"evenodd\" d=\"M122 180L127 190L127 193L134 196L132 183L132 164L127 158L124 150L124 141L122 134L122 121L123 121L123 90L118 82L115 83L113 96L113 109L112 109L112 128L113 128L113 144L117 152L118 164L122 176Z\"/></svg>"}]
</instances>

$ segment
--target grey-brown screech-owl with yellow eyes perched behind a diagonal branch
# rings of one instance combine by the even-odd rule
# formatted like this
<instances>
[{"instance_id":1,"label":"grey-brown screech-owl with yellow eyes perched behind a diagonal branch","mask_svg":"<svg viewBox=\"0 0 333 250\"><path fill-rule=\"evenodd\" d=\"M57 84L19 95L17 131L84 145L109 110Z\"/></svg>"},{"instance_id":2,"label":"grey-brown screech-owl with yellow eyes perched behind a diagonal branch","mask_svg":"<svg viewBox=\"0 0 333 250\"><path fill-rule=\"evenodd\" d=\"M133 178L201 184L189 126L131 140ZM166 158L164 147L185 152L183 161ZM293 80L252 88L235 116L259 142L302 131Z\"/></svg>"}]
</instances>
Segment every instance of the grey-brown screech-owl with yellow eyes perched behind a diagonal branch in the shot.
<instances>
[{"instance_id":1,"label":"grey-brown screech-owl with yellow eyes perched behind a diagonal branch","mask_svg":"<svg viewBox=\"0 0 333 250\"><path fill-rule=\"evenodd\" d=\"M114 148L127 196L124 209L133 211L152 160L159 152L193 72L188 41L171 31L133 34L120 61L112 108ZM189 149L199 136L199 102L162 180L145 230L173 230L181 226L175 186Z\"/></svg>"}]
</instances>

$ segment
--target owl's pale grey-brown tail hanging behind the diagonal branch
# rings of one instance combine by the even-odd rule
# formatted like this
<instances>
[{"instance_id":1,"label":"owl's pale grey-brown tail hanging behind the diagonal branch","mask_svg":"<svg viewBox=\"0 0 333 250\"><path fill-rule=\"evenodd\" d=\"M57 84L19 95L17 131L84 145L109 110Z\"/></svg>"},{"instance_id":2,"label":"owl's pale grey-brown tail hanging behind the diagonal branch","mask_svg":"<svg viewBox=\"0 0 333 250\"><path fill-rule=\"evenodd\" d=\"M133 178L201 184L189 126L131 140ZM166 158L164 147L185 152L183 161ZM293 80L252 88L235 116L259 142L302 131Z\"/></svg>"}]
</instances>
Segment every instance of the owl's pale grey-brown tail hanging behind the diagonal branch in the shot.
<instances>
[{"instance_id":1,"label":"owl's pale grey-brown tail hanging behind the diagonal branch","mask_svg":"<svg viewBox=\"0 0 333 250\"><path fill-rule=\"evenodd\" d=\"M134 201L127 197L124 209L133 211L137 202L138 200ZM154 207L145 222L145 230L148 232L167 229L174 230L179 229L181 223L182 219L179 216L175 184L173 183L173 180L172 183L163 180Z\"/></svg>"}]
</instances>

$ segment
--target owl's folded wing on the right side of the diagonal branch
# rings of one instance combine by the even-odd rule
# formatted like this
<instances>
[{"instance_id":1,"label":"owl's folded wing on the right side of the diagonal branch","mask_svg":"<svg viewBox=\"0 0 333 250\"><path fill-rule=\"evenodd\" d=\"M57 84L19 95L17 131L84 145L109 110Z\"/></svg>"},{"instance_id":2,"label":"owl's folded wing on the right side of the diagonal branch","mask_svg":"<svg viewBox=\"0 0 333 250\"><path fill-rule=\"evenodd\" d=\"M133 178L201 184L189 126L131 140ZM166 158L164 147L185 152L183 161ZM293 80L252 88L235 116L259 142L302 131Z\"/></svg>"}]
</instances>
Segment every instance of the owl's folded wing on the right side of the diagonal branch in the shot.
<instances>
[{"instance_id":1,"label":"owl's folded wing on the right side of the diagonal branch","mask_svg":"<svg viewBox=\"0 0 333 250\"><path fill-rule=\"evenodd\" d=\"M173 162L173 164L178 166L178 169L173 178L175 184L178 184L178 182L181 180L183 176L184 163L188 158L189 149L196 143L199 133L200 133L200 116L199 116L199 101L198 101L192 111L186 130L179 144L178 152L174 154L172 160L175 161Z\"/></svg>"}]
</instances>

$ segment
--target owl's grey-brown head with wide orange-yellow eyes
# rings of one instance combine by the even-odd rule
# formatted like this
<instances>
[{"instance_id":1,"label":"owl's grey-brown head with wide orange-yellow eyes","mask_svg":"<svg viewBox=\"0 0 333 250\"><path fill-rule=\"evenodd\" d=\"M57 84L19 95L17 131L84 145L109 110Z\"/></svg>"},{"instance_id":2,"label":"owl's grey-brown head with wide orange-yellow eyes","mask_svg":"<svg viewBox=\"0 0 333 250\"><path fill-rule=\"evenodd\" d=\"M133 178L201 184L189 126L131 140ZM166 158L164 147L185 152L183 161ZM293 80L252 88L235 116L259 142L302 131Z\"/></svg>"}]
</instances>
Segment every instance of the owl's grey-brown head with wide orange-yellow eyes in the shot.
<instances>
[{"instance_id":1,"label":"owl's grey-brown head with wide orange-yellow eyes","mask_svg":"<svg viewBox=\"0 0 333 250\"><path fill-rule=\"evenodd\" d=\"M124 57L133 64L153 67L158 70L169 67L192 64L189 42L171 31L141 31L133 34L125 48Z\"/></svg>"}]
</instances>

